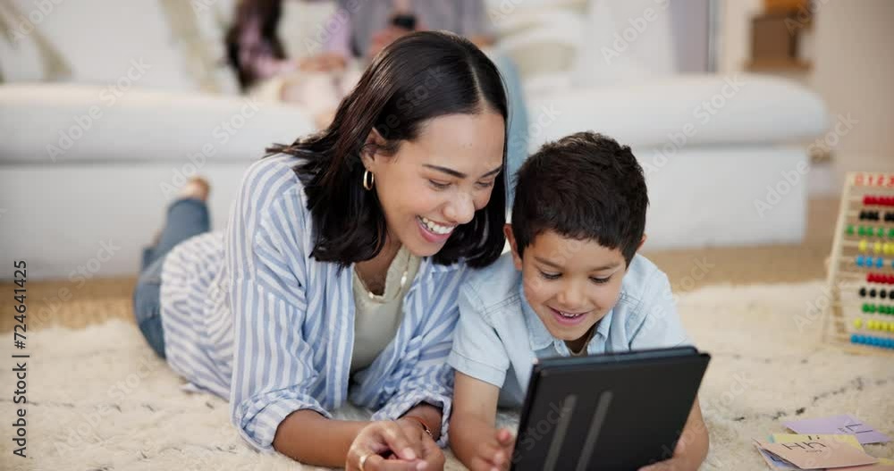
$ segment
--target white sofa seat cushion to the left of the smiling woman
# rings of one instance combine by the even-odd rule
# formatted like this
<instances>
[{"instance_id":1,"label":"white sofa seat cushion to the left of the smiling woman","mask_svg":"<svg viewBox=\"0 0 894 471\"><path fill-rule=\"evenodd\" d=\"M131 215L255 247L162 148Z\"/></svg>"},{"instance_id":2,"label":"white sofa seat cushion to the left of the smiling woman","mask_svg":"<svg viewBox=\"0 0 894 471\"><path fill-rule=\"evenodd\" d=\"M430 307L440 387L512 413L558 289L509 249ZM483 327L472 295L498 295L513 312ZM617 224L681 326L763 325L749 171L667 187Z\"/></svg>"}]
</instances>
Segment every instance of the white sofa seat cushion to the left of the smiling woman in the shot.
<instances>
[{"instance_id":1,"label":"white sofa seat cushion to the left of the smiling woman","mask_svg":"<svg viewBox=\"0 0 894 471\"><path fill-rule=\"evenodd\" d=\"M0 86L0 163L248 161L314 130L296 106L123 86Z\"/></svg>"}]
</instances>

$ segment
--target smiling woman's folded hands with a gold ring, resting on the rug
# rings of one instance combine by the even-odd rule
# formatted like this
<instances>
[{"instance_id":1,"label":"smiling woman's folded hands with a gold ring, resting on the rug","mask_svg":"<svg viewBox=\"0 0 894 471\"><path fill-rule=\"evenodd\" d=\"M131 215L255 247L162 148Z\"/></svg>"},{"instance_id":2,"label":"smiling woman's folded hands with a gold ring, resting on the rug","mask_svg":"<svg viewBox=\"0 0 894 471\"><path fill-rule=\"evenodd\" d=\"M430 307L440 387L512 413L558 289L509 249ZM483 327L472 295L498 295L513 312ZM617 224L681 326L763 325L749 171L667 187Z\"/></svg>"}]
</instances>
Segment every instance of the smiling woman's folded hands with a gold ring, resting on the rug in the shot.
<instances>
[{"instance_id":1,"label":"smiling woman's folded hands with a gold ring, resting on the rug","mask_svg":"<svg viewBox=\"0 0 894 471\"><path fill-rule=\"evenodd\" d=\"M382 420L360 430L348 450L345 469L433 471L443 469L443 463L443 452L417 423Z\"/></svg>"}]
</instances>

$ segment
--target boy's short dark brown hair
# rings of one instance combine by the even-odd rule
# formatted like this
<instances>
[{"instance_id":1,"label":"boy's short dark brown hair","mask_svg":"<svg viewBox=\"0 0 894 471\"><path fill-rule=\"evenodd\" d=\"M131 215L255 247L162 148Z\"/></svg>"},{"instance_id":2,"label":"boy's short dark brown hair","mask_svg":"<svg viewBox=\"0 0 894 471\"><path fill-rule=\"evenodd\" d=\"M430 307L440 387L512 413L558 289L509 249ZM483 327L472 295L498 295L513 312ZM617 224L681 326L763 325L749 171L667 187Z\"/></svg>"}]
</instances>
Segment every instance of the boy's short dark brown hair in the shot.
<instances>
[{"instance_id":1,"label":"boy's short dark brown hair","mask_svg":"<svg viewBox=\"0 0 894 471\"><path fill-rule=\"evenodd\" d=\"M519 257L545 231L637 254L649 206L643 167L630 147L595 132L548 142L516 173L512 235Z\"/></svg>"}]
</instances>

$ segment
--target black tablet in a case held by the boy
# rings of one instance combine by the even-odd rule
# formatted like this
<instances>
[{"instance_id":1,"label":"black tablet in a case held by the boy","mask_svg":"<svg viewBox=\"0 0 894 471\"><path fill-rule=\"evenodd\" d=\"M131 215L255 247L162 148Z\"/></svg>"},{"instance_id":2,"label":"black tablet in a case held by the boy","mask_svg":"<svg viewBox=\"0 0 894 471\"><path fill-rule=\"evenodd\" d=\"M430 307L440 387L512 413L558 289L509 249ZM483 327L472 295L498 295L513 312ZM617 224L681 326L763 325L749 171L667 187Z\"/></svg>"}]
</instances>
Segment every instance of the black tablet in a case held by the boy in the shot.
<instances>
[{"instance_id":1,"label":"black tablet in a case held by the boy","mask_svg":"<svg viewBox=\"0 0 894 471\"><path fill-rule=\"evenodd\" d=\"M540 360L512 469L628 471L671 458L710 360L692 347Z\"/></svg>"}]
</instances>

